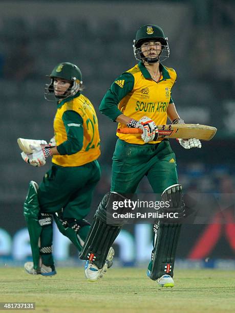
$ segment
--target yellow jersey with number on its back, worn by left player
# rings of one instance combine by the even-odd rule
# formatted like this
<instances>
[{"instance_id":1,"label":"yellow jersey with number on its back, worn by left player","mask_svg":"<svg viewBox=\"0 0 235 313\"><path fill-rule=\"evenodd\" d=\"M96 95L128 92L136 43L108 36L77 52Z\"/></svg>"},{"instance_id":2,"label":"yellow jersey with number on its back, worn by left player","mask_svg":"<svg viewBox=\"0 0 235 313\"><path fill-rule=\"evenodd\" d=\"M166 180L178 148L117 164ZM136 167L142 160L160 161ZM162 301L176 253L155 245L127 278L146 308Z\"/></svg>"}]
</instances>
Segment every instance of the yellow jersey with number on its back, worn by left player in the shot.
<instances>
[{"instance_id":1,"label":"yellow jersey with number on its back, worn by left player","mask_svg":"<svg viewBox=\"0 0 235 313\"><path fill-rule=\"evenodd\" d=\"M68 167L81 166L100 155L100 138L95 109L80 92L59 101L54 118L57 150L52 163Z\"/></svg>"}]
</instances>

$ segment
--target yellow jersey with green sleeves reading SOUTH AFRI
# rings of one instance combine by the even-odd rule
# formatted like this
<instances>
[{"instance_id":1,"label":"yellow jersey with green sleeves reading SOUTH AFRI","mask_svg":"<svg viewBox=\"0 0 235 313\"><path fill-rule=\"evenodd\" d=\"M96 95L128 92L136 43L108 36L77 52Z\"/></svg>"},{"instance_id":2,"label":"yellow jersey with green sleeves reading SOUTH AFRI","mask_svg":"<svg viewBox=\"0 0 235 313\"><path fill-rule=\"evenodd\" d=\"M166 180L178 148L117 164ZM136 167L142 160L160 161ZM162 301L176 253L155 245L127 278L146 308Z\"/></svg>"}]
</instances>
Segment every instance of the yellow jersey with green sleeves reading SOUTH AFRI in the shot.
<instances>
[{"instance_id":1,"label":"yellow jersey with green sleeves reading SOUTH AFRI","mask_svg":"<svg viewBox=\"0 0 235 313\"><path fill-rule=\"evenodd\" d=\"M143 116L151 118L156 125L166 124L167 107L173 103L171 94L176 81L174 69L167 68L161 63L159 69L162 76L154 81L142 62L124 72L111 85L101 101L99 110L113 121L124 114L137 121ZM118 128L126 127L118 124ZM144 144L138 135L117 133L117 136L132 144ZM158 141L160 142L161 139ZM149 142L155 144L156 141Z\"/></svg>"}]
</instances>

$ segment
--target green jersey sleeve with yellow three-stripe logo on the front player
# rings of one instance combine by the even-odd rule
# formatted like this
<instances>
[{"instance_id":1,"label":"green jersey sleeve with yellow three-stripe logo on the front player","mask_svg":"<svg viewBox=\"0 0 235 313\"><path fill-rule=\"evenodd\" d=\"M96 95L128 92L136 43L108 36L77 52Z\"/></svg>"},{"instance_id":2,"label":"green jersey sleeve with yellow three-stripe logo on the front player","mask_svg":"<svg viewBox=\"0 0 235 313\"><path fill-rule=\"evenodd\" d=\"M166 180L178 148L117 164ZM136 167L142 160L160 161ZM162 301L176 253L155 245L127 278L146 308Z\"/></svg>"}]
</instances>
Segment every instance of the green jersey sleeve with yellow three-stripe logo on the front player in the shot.
<instances>
[{"instance_id":1,"label":"green jersey sleeve with yellow three-stripe logo on the front player","mask_svg":"<svg viewBox=\"0 0 235 313\"><path fill-rule=\"evenodd\" d=\"M121 115L118 104L134 87L135 79L131 73L121 74L111 85L108 92L103 97L99 111L101 114L108 116L115 122L116 118Z\"/></svg>"}]
</instances>

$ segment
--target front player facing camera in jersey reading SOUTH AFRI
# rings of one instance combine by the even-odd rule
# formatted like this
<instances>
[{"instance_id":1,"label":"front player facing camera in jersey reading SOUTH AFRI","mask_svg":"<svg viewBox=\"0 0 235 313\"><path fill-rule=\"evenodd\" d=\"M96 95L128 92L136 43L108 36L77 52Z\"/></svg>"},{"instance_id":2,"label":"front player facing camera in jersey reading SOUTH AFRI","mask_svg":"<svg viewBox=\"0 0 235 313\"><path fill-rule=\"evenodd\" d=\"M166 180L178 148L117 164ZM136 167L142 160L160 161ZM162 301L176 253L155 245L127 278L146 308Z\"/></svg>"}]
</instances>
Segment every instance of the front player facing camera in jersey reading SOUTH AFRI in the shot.
<instances>
[{"instance_id":1,"label":"front player facing camera in jersey reading SOUTH AFRI","mask_svg":"<svg viewBox=\"0 0 235 313\"><path fill-rule=\"evenodd\" d=\"M143 132L141 136L117 133L111 192L102 199L80 253L82 259L88 260L85 274L90 280L98 278L124 223L109 225L109 209L112 209L114 200L121 201L125 194L135 193L145 175L154 193L170 202L170 211L180 217L185 215L175 153L168 140L158 139L156 126L166 124L167 118L173 124L184 123L172 98L176 72L162 65L162 61L169 57L167 38L160 27L145 25L137 31L133 48L139 63L114 81L99 110L118 122L118 128L137 127ZM201 148L197 139L179 139L179 143L186 149ZM169 209L164 207L161 212L165 214ZM154 247L147 275L161 286L174 286L173 269L180 227L181 223L169 220L157 220L154 225ZM102 240L101 232L106 236Z\"/></svg>"}]
</instances>

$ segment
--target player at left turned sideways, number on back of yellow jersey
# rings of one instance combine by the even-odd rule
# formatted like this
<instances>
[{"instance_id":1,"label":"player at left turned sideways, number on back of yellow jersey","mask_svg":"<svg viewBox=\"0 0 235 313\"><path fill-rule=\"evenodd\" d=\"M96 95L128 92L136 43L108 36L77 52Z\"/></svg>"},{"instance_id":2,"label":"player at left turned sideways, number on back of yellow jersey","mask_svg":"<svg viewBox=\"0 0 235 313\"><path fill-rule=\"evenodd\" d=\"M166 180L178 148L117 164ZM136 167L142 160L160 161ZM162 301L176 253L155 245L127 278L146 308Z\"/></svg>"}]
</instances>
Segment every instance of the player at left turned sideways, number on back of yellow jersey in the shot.
<instances>
[{"instance_id":1,"label":"player at left turned sideways, number on back of yellow jersey","mask_svg":"<svg viewBox=\"0 0 235 313\"><path fill-rule=\"evenodd\" d=\"M24 161L33 166L45 165L52 157L52 167L41 184L30 182L24 204L33 256L25 270L44 276L56 274L52 255L53 217L59 231L80 251L90 230L90 223L84 218L100 179L97 116L92 103L81 93L81 71L76 65L63 62L55 66L50 79L45 98L57 102L54 144L41 141L38 146L31 146L32 154L22 152Z\"/></svg>"}]
</instances>

